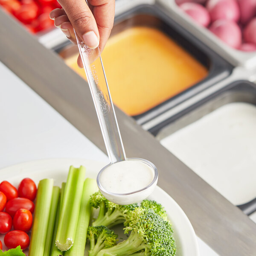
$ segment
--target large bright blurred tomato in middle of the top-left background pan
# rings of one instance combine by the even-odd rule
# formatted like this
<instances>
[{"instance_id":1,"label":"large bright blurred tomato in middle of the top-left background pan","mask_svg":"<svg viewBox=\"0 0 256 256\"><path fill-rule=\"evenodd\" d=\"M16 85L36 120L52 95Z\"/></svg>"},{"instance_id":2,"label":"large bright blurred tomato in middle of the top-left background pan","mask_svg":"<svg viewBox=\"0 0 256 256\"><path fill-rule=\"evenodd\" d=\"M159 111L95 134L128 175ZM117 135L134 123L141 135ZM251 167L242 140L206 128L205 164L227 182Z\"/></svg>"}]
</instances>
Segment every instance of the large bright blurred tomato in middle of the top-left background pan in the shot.
<instances>
[{"instance_id":1,"label":"large bright blurred tomato in middle of the top-left background pan","mask_svg":"<svg viewBox=\"0 0 256 256\"><path fill-rule=\"evenodd\" d=\"M26 3L14 12L15 17L23 23L30 23L38 16L39 8L35 3Z\"/></svg>"}]
</instances>

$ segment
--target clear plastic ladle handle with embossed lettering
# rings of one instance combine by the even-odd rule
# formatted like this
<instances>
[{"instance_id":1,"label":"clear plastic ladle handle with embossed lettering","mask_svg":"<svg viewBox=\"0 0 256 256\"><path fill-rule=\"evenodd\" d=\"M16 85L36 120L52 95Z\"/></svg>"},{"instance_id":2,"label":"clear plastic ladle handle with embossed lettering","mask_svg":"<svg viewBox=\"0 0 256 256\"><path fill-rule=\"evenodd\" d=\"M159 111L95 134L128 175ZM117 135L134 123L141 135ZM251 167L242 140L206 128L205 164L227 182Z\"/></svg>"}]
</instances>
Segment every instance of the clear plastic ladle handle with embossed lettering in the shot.
<instances>
[{"instance_id":1,"label":"clear plastic ladle handle with embossed lettering","mask_svg":"<svg viewBox=\"0 0 256 256\"><path fill-rule=\"evenodd\" d=\"M125 160L125 150L116 120L99 48L90 49L76 34L87 81L93 97L103 139L111 163Z\"/></svg>"}]
</instances>

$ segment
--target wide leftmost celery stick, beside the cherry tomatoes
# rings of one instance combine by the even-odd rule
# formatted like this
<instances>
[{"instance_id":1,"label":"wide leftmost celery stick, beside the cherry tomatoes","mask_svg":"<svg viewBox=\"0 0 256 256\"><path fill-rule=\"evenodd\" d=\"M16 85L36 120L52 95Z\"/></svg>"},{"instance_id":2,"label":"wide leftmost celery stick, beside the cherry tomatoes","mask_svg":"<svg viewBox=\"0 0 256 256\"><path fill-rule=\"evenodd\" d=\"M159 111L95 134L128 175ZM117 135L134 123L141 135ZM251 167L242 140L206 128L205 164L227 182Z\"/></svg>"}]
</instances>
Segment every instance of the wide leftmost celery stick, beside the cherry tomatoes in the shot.
<instances>
[{"instance_id":1,"label":"wide leftmost celery stick, beside the cherry tomatoes","mask_svg":"<svg viewBox=\"0 0 256 256\"><path fill-rule=\"evenodd\" d=\"M52 201L53 179L40 180L35 204L29 256L43 256Z\"/></svg>"}]
</instances>

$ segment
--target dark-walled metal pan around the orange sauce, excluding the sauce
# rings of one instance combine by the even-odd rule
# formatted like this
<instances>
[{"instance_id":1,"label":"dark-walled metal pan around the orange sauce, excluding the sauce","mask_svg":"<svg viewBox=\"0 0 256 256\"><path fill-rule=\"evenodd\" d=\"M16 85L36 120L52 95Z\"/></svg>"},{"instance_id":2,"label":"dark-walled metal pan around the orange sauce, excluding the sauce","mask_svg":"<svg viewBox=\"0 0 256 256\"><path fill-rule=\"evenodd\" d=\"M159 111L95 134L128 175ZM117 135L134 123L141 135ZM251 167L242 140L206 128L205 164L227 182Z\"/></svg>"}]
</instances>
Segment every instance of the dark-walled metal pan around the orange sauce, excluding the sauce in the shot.
<instances>
[{"instance_id":1,"label":"dark-walled metal pan around the orange sauce, excluding the sauce","mask_svg":"<svg viewBox=\"0 0 256 256\"><path fill-rule=\"evenodd\" d=\"M197 84L192 85L189 89L184 90L140 115L135 115L134 118L139 124L143 124L148 119L151 119L152 116L159 115L159 113L166 111L166 109L179 104L201 90L221 81L230 75L233 68L227 61L224 61L218 54L202 44L193 35L187 32L186 29L183 29L178 23L172 20L170 16L171 15L164 12L163 7L157 4L133 7L116 16L111 36L133 27L143 26L157 29L172 38L172 40L183 47L183 49L189 52L190 55L206 67L208 75ZM59 47L55 50L59 52L63 58L77 52L76 47L71 45L64 48ZM132 56L132 58L136 59L136 56ZM186 76L186 74L184 74L184 76ZM150 79L150 74L145 77L145 84L149 81L148 79ZM120 81L120 83L122 83L122 81Z\"/></svg>"}]
</instances>

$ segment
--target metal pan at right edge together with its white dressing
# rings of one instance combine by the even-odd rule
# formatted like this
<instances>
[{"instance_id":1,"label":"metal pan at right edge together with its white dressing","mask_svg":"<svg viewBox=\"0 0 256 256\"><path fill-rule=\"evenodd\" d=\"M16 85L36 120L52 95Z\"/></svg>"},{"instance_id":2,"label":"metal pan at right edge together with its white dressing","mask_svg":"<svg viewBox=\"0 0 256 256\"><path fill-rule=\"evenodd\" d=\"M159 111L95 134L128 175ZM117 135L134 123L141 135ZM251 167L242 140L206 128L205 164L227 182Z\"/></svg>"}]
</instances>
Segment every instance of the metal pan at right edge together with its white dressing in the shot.
<instances>
[{"instance_id":1,"label":"metal pan at right edge together with its white dressing","mask_svg":"<svg viewBox=\"0 0 256 256\"><path fill-rule=\"evenodd\" d=\"M256 84L236 81L169 119L155 133L218 192L251 213L256 210L255 120Z\"/></svg>"}]
</instances>

